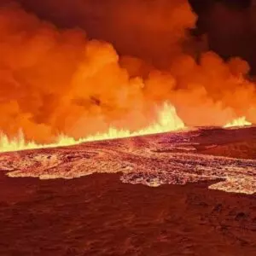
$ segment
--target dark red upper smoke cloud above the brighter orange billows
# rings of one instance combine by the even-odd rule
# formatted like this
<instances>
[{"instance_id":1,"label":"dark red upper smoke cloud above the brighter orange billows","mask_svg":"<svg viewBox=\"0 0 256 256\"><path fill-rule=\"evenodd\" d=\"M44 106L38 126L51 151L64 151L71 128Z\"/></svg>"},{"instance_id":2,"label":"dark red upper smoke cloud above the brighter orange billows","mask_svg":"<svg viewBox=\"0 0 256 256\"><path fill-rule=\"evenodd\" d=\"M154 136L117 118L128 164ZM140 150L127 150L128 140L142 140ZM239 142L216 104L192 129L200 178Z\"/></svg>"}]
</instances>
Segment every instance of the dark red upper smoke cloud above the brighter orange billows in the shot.
<instances>
[{"instance_id":1,"label":"dark red upper smoke cloud above the brighter orange billows","mask_svg":"<svg viewBox=\"0 0 256 256\"><path fill-rule=\"evenodd\" d=\"M166 67L191 40L196 16L186 0L17 0L61 28L79 26L88 38L113 44L119 55L133 55Z\"/></svg>"}]
</instances>

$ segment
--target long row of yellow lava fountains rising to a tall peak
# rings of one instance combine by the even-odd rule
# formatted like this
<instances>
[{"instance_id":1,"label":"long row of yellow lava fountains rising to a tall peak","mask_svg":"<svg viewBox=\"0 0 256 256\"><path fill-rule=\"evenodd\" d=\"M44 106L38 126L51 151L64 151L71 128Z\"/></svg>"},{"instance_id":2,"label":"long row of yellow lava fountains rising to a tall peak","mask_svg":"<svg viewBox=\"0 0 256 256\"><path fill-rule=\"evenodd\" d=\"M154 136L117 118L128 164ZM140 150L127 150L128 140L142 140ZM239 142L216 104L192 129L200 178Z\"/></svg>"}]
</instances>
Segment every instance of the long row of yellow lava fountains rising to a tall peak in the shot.
<instances>
[{"instance_id":1,"label":"long row of yellow lava fountains rising to a tall peak","mask_svg":"<svg viewBox=\"0 0 256 256\"><path fill-rule=\"evenodd\" d=\"M176 109L165 102L158 113L157 121L149 125L140 131L129 131L129 130L118 130L114 127L110 127L105 133L96 133L95 135L80 138L75 140L73 137L67 137L64 134L61 134L56 143L50 144L38 144L35 142L26 142L23 132L20 131L18 136L12 139L5 134L0 134L0 152L10 152L10 151L19 151L25 149L35 149L35 148L55 148L63 146L71 146L79 143L93 142L93 141L102 141L115 138L124 138L124 137L137 137L149 134L157 134L168 131L177 131L185 128L185 125L177 116Z\"/></svg>"}]
</instances>

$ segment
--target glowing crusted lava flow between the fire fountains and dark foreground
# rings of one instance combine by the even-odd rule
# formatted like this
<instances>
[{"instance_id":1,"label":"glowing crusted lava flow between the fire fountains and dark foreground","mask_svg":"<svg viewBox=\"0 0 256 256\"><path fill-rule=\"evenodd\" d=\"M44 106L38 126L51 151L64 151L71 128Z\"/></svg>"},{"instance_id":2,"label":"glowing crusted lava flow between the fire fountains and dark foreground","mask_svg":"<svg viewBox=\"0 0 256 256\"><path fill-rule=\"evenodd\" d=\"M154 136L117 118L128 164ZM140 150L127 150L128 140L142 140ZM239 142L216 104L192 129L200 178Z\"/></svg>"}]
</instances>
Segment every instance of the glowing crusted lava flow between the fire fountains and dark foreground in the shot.
<instances>
[{"instance_id":1,"label":"glowing crusted lava flow between the fire fountains and dark foreground","mask_svg":"<svg viewBox=\"0 0 256 256\"><path fill-rule=\"evenodd\" d=\"M9 177L74 178L121 172L124 183L186 184L212 181L210 189L256 192L256 128L198 128L67 148L0 154Z\"/></svg>"}]
</instances>

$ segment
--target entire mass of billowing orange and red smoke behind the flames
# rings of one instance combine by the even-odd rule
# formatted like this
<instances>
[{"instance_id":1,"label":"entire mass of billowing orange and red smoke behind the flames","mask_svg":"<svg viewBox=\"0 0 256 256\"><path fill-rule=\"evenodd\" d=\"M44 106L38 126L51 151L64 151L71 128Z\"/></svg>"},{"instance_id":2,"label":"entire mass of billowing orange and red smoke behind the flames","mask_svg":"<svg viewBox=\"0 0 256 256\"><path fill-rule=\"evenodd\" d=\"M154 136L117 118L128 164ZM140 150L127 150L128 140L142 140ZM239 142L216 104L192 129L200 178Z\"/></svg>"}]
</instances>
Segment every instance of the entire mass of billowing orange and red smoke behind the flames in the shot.
<instances>
[{"instance_id":1,"label":"entire mass of billowing orange and red smoke behind the flames","mask_svg":"<svg viewBox=\"0 0 256 256\"><path fill-rule=\"evenodd\" d=\"M154 119L154 106L166 101L187 125L224 125L240 115L256 119L247 62L226 63L202 53L205 44L189 37L196 17L187 1L102 3L44 1L59 12L58 26L16 3L1 5L3 132L11 137L22 129L27 139L49 142L59 133L84 137L109 125L137 130ZM60 28L68 22L61 21L67 9L98 39L88 39L81 28ZM99 19L102 26L95 25Z\"/></svg>"}]
</instances>

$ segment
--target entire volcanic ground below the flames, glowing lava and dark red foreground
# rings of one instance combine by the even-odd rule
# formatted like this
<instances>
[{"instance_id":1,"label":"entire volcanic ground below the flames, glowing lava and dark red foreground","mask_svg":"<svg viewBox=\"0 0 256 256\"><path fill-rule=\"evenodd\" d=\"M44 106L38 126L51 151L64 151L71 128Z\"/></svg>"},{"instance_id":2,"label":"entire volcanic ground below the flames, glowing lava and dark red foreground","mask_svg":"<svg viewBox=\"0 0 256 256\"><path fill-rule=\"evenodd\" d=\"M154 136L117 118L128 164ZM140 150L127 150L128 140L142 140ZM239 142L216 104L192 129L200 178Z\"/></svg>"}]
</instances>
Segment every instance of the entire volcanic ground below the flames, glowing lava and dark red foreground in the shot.
<instances>
[{"instance_id":1,"label":"entire volcanic ground below the flames, glowing lava and dark red foreground","mask_svg":"<svg viewBox=\"0 0 256 256\"><path fill-rule=\"evenodd\" d=\"M255 155L255 127L2 153L0 254L255 255Z\"/></svg>"}]
</instances>

